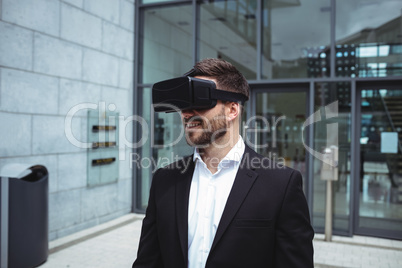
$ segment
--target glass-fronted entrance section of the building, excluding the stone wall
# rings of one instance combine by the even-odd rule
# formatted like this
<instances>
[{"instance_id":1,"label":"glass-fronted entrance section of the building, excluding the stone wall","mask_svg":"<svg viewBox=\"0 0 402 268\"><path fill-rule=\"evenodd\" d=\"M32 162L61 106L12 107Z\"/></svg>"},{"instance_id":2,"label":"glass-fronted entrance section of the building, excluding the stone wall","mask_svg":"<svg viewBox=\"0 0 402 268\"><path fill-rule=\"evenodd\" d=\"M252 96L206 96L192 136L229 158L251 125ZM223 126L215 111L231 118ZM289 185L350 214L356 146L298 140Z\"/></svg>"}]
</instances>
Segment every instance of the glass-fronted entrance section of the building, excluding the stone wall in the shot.
<instances>
[{"instance_id":1,"label":"glass-fronted entrance section of the building, excluding the stone wall","mask_svg":"<svg viewBox=\"0 0 402 268\"><path fill-rule=\"evenodd\" d=\"M151 135L135 149L135 211L146 208L152 171L192 152L179 115L152 112L152 84L213 57L248 79L243 138L302 172L317 232L324 230L324 152L336 146L334 233L401 239L401 11L402 1L380 0L138 3L135 112L148 129L134 131L137 140Z\"/></svg>"}]
</instances>

